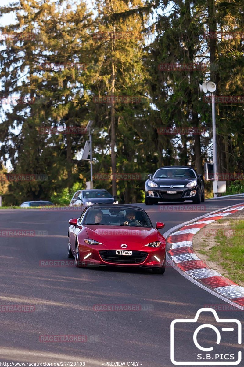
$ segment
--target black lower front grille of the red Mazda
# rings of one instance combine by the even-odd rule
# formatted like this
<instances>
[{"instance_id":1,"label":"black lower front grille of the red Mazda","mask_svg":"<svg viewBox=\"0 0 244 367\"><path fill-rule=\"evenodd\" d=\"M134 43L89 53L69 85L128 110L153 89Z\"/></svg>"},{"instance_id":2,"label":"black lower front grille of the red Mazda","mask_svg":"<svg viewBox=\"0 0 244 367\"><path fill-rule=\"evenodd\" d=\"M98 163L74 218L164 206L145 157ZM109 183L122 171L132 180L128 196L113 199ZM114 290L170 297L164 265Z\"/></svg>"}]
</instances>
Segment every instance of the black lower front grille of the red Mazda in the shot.
<instances>
[{"instance_id":1,"label":"black lower front grille of the red Mazda","mask_svg":"<svg viewBox=\"0 0 244 367\"><path fill-rule=\"evenodd\" d=\"M132 255L116 255L116 250L99 251L102 260L114 264L140 264L146 260L147 252L132 251Z\"/></svg>"}]
</instances>

